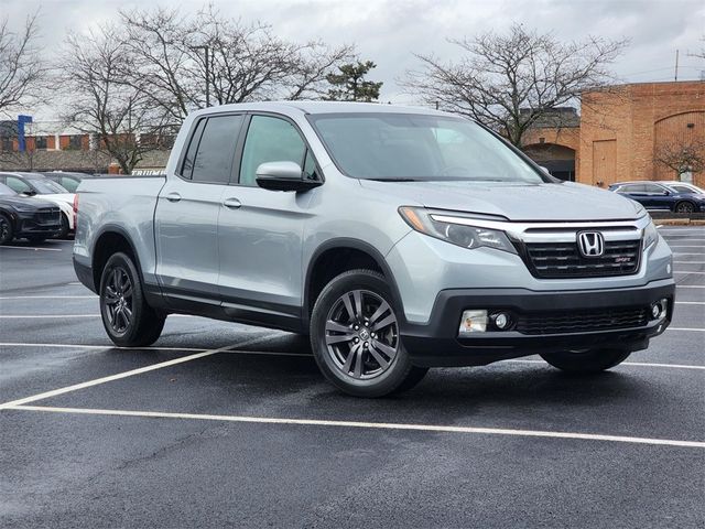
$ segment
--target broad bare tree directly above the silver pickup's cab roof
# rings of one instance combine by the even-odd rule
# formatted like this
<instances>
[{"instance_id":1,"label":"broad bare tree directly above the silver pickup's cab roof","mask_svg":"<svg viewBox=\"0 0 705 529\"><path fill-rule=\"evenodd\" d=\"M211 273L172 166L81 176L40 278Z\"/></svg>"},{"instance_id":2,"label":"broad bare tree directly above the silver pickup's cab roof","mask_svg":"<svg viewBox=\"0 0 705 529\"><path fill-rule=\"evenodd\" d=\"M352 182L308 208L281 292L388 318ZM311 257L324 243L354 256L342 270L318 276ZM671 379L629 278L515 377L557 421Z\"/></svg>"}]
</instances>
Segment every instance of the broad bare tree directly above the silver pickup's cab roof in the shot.
<instances>
[{"instance_id":1,"label":"broad bare tree directly above the silver pickup's cab roof","mask_svg":"<svg viewBox=\"0 0 705 529\"><path fill-rule=\"evenodd\" d=\"M355 52L288 42L212 6L192 18L176 9L123 11L121 23L134 57L128 80L174 123L210 102L319 98L326 76Z\"/></svg>"}]
</instances>

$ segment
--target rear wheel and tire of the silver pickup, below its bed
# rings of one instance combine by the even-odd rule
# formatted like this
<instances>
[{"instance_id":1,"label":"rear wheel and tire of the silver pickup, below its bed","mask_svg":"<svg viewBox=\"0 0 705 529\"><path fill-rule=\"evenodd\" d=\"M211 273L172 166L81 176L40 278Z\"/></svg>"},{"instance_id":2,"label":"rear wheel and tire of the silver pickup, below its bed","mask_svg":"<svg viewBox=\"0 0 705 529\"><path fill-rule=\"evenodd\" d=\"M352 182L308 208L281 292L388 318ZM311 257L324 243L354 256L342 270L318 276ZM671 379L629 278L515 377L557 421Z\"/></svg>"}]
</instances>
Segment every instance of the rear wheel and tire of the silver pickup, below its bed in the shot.
<instances>
[{"instance_id":1,"label":"rear wheel and tire of the silver pickup, below its bed","mask_svg":"<svg viewBox=\"0 0 705 529\"><path fill-rule=\"evenodd\" d=\"M162 334L164 315L147 304L132 258L115 253L100 277L100 316L108 336L120 347L152 345Z\"/></svg>"}]
</instances>

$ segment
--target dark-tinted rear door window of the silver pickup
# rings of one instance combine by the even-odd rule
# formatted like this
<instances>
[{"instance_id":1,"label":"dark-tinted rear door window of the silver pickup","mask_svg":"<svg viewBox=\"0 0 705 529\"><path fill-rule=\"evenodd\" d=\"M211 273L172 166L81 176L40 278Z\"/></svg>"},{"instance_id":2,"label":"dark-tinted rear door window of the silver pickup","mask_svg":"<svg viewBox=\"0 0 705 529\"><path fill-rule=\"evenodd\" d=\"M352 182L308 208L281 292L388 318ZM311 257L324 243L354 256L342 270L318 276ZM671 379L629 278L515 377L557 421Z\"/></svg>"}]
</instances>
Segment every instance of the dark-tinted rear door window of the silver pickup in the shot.
<instances>
[{"instance_id":1,"label":"dark-tinted rear door window of the silver pickup","mask_svg":"<svg viewBox=\"0 0 705 529\"><path fill-rule=\"evenodd\" d=\"M192 147L197 139L198 128L202 126L198 123L186 152L183 176L194 182L227 184L232 173L232 159L242 120L242 116L208 118L203 127L198 147L193 153ZM189 169L191 175L188 175L187 169Z\"/></svg>"}]
</instances>

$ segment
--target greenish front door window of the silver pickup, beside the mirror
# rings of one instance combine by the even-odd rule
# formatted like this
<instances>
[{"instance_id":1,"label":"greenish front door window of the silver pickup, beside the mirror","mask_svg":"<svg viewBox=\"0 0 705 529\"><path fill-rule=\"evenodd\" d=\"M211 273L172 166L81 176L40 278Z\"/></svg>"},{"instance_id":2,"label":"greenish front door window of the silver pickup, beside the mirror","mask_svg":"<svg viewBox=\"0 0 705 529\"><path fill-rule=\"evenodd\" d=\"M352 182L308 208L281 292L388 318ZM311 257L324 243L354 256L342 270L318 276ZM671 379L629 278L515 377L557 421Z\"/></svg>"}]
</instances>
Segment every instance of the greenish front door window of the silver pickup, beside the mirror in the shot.
<instances>
[{"instance_id":1,"label":"greenish front door window of the silver pickup, beside the mirror","mask_svg":"<svg viewBox=\"0 0 705 529\"><path fill-rule=\"evenodd\" d=\"M289 121L270 116L252 116L245 140L240 184L257 185L257 168L267 162L304 161L306 144Z\"/></svg>"}]
</instances>

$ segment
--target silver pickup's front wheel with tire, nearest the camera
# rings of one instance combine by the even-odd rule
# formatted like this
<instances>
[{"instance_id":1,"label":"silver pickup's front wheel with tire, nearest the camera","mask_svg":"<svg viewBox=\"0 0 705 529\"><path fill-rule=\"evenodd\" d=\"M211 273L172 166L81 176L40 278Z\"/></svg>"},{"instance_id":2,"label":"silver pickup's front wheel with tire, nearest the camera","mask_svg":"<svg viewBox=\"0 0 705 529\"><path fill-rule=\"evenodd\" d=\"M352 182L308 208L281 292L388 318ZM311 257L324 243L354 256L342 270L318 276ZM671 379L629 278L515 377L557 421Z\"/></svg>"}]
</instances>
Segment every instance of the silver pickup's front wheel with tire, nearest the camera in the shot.
<instances>
[{"instance_id":1,"label":"silver pickup's front wheel with tire, nearest the camera","mask_svg":"<svg viewBox=\"0 0 705 529\"><path fill-rule=\"evenodd\" d=\"M382 274L350 270L333 279L311 317L311 346L324 376L355 397L383 397L419 384L427 369L412 365L399 314Z\"/></svg>"}]
</instances>

